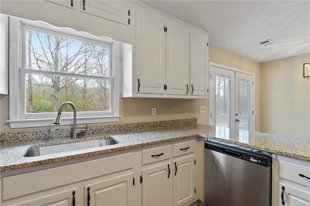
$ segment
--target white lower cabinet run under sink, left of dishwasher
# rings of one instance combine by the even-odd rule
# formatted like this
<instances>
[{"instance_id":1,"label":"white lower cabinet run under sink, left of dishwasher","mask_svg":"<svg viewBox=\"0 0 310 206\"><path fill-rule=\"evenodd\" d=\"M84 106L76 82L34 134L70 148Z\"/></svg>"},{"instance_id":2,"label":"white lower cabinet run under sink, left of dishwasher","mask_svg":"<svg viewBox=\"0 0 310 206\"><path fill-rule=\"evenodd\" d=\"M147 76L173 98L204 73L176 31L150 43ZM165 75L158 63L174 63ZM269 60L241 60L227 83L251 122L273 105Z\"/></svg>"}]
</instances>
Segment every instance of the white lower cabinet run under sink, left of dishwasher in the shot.
<instances>
[{"instance_id":1,"label":"white lower cabinet run under sink, left of dishwasher","mask_svg":"<svg viewBox=\"0 0 310 206\"><path fill-rule=\"evenodd\" d=\"M197 200L193 139L1 172L0 205L188 205Z\"/></svg>"}]
</instances>

